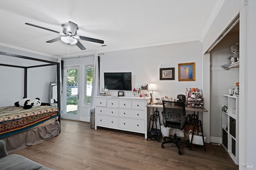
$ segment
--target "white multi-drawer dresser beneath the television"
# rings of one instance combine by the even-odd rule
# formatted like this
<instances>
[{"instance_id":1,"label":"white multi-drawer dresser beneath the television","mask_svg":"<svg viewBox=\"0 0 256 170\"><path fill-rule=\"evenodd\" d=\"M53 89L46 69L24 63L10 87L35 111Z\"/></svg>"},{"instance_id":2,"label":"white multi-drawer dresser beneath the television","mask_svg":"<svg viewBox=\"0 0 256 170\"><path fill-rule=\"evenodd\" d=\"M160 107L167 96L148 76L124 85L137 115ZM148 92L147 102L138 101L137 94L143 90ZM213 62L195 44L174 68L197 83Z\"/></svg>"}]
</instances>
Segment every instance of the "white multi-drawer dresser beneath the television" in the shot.
<instances>
[{"instance_id":1,"label":"white multi-drawer dresser beneath the television","mask_svg":"<svg viewBox=\"0 0 256 170\"><path fill-rule=\"evenodd\" d=\"M147 109L149 97L97 96L95 129L114 128L145 134L147 138Z\"/></svg>"}]
</instances>

